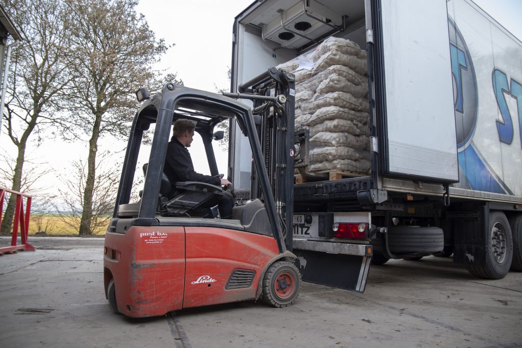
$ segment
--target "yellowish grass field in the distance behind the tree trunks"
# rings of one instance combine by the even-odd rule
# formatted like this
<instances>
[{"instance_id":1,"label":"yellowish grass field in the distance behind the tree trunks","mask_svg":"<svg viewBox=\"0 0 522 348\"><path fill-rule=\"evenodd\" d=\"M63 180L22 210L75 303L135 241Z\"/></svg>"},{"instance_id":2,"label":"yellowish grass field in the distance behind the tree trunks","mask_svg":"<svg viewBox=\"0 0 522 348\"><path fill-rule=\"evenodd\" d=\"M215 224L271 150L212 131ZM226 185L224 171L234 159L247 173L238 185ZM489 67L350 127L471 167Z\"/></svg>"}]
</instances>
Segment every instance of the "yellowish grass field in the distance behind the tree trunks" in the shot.
<instances>
[{"instance_id":1,"label":"yellowish grass field in the distance behind the tree trunks","mask_svg":"<svg viewBox=\"0 0 522 348\"><path fill-rule=\"evenodd\" d=\"M105 235L109 220L110 219L107 218L106 223L99 227L94 234ZM75 218L72 216L60 217L60 215L54 214L31 214L29 235L34 235L38 232L45 232L47 235L78 235L78 231L68 223L78 225L79 221L75 224Z\"/></svg>"}]
</instances>

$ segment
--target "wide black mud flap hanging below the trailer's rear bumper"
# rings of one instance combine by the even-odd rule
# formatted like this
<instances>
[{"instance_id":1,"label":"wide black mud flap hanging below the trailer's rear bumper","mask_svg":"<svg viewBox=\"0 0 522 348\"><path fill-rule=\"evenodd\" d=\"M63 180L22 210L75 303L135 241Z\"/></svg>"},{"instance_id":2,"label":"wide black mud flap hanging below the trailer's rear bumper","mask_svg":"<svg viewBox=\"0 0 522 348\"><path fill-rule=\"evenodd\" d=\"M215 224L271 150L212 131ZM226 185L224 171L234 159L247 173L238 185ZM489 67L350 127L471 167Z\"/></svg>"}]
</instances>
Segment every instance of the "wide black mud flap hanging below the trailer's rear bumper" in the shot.
<instances>
[{"instance_id":1,"label":"wide black mud flap hanging below the trailer's rear bumper","mask_svg":"<svg viewBox=\"0 0 522 348\"><path fill-rule=\"evenodd\" d=\"M298 257L294 263L303 281L364 292L372 254L331 254L295 248L293 253Z\"/></svg>"}]
</instances>

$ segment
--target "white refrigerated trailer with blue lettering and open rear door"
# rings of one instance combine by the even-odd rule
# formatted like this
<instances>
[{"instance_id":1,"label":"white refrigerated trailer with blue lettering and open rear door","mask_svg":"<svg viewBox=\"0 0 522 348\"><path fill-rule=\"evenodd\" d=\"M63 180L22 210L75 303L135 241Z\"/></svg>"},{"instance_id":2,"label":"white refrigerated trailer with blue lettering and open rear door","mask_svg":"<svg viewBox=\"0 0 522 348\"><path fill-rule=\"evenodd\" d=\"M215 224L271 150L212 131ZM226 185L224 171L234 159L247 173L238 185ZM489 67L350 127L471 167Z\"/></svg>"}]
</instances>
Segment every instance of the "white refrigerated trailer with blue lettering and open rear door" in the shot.
<instances>
[{"instance_id":1,"label":"white refrigerated trailer with blue lettering and open rear door","mask_svg":"<svg viewBox=\"0 0 522 348\"><path fill-rule=\"evenodd\" d=\"M365 51L370 169L307 172L294 185L303 280L343 287L336 272L361 245L374 264L453 255L481 278L522 271L522 43L470 0L258 1L235 18L232 91L292 59L293 73L313 69L308 58L331 38ZM296 130L295 167L308 132ZM244 141L232 123L231 177L247 192Z\"/></svg>"}]
</instances>

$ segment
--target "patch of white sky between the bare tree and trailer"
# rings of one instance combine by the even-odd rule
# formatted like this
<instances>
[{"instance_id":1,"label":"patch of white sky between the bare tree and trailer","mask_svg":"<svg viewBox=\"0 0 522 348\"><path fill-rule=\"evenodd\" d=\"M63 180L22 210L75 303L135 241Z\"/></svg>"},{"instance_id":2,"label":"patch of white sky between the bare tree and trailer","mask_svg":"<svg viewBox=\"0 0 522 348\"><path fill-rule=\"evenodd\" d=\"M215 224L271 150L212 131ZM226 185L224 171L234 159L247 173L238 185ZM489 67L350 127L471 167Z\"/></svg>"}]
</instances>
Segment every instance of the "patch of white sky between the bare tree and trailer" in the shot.
<instances>
[{"instance_id":1,"label":"patch of white sky between the bare tree and trailer","mask_svg":"<svg viewBox=\"0 0 522 348\"><path fill-rule=\"evenodd\" d=\"M216 91L229 88L234 17L253 0L141 0L137 11L144 14L152 31L167 44L175 44L161 66L177 71L185 86ZM160 10L161 9L161 10Z\"/></svg>"}]
</instances>

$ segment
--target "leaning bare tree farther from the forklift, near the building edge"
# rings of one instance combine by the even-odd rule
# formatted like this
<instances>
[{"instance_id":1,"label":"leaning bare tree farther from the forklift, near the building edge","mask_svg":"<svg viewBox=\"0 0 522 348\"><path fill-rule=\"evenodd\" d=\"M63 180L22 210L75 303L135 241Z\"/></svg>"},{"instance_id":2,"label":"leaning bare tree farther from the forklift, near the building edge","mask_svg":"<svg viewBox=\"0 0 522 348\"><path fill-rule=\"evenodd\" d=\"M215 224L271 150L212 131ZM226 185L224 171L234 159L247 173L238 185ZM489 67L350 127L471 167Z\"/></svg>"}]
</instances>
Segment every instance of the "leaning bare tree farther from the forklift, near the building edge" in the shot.
<instances>
[{"instance_id":1,"label":"leaning bare tree farther from the forklift, near the building edge","mask_svg":"<svg viewBox=\"0 0 522 348\"><path fill-rule=\"evenodd\" d=\"M58 93L70 77L65 70L63 51L66 27L62 6L54 0L6 0L6 10L24 40L13 54L13 73L7 90L4 128L17 147L11 189L22 188L22 170L29 137L52 124L63 124L56 117ZM16 196L11 195L1 230L9 232L13 223Z\"/></svg>"}]
</instances>

